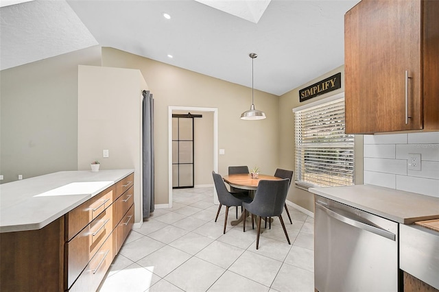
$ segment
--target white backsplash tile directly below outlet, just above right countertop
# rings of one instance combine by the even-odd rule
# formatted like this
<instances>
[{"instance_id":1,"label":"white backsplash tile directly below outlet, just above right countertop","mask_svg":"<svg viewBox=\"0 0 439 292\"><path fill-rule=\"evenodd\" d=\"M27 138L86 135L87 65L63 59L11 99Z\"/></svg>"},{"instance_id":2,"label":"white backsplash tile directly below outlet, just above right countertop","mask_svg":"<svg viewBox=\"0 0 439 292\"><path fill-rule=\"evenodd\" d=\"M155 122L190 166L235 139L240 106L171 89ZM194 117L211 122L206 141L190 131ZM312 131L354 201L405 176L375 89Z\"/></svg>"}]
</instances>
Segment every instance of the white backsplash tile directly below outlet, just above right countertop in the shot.
<instances>
[{"instance_id":1,"label":"white backsplash tile directly below outlet, just above right countertop","mask_svg":"<svg viewBox=\"0 0 439 292\"><path fill-rule=\"evenodd\" d=\"M439 197L439 180L396 175L396 189L422 195Z\"/></svg>"}]
</instances>

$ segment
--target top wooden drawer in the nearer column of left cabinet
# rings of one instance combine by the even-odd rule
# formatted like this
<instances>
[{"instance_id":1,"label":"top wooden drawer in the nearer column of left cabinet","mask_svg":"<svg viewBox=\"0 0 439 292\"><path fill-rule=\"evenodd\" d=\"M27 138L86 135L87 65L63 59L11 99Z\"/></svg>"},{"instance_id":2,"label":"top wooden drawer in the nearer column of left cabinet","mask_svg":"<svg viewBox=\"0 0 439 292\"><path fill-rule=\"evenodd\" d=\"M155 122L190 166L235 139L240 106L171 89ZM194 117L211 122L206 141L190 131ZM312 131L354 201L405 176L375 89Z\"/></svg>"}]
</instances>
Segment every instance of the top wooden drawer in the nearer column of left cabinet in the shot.
<instances>
[{"instance_id":1,"label":"top wooden drawer in the nearer column of left cabinet","mask_svg":"<svg viewBox=\"0 0 439 292\"><path fill-rule=\"evenodd\" d=\"M113 193L115 193L115 187L110 186L105 191L95 195L87 202L84 202L80 206L67 213L67 241L73 239L73 236L78 234L82 228L87 226L88 223L93 221L93 219L98 217L102 211L112 204Z\"/></svg>"}]
</instances>

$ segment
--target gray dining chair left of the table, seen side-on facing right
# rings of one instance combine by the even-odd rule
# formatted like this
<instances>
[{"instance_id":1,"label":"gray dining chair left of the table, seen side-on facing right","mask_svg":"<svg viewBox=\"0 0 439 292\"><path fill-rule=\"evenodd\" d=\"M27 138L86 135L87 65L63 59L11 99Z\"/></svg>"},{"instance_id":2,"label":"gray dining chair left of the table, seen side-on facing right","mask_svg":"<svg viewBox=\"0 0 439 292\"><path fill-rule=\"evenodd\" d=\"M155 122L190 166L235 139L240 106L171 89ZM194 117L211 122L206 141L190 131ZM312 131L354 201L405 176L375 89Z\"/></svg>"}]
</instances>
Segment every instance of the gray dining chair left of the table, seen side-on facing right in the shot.
<instances>
[{"instance_id":1,"label":"gray dining chair left of the table, seen side-on facing right","mask_svg":"<svg viewBox=\"0 0 439 292\"><path fill-rule=\"evenodd\" d=\"M215 222L218 219L218 215L219 215L219 211L221 210L221 207L223 205L226 206L226 215L224 217L224 231L223 231L223 234L225 234L226 226L227 226L228 208L231 206L235 206L238 208L238 206L242 206L243 202L247 202L247 203L252 202L252 198L248 195L247 196L234 195L233 193L230 193L227 190L221 175L215 173L215 171L212 171L212 176L213 176L213 183L215 184L215 188L217 190L217 195L219 200L219 206L218 206L217 216L215 217Z\"/></svg>"}]
</instances>

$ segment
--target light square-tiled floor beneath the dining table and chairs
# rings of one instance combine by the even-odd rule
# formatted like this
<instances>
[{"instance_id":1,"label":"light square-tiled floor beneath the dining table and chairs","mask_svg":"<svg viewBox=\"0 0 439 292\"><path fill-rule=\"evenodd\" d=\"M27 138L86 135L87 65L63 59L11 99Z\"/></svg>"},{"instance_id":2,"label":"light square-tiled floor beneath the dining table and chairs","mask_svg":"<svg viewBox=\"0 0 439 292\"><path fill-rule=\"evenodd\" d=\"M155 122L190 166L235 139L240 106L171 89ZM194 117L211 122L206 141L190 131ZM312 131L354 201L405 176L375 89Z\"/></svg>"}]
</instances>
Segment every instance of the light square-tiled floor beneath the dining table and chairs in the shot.
<instances>
[{"instance_id":1,"label":"light square-tiled floor beneath the dining table and chairs","mask_svg":"<svg viewBox=\"0 0 439 292\"><path fill-rule=\"evenodd\" d=\"M215 222L217 208L213 188L174 190L173 208L130 232L99 291L314 291L312 217L289 207L292 245L275 219L256 250L250 217L243 232L230 208L223 234L226 208Z\"/></svg>"}]
</instances>

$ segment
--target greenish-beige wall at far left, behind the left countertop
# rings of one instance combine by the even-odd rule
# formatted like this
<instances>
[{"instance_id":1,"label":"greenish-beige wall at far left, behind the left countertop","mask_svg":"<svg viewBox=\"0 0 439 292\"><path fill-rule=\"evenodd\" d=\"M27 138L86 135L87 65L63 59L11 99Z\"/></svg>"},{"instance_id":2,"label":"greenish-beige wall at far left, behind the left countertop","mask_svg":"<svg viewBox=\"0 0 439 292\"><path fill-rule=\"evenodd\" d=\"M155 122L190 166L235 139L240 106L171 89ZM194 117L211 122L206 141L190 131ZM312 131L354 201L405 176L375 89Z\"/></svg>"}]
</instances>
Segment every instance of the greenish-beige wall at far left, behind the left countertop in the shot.
<instances>
[{"instance_id":1,"label":"greenish-beige wall at far left, behind the left countertop","mask_svg":"<svg viewBox=\"0 0 439 292\"><path fill-rule=\"evenodd\" d=\"M78 64L100 47L0 71L0 183L78 167Z\"/></svg>"}]
</instances>

